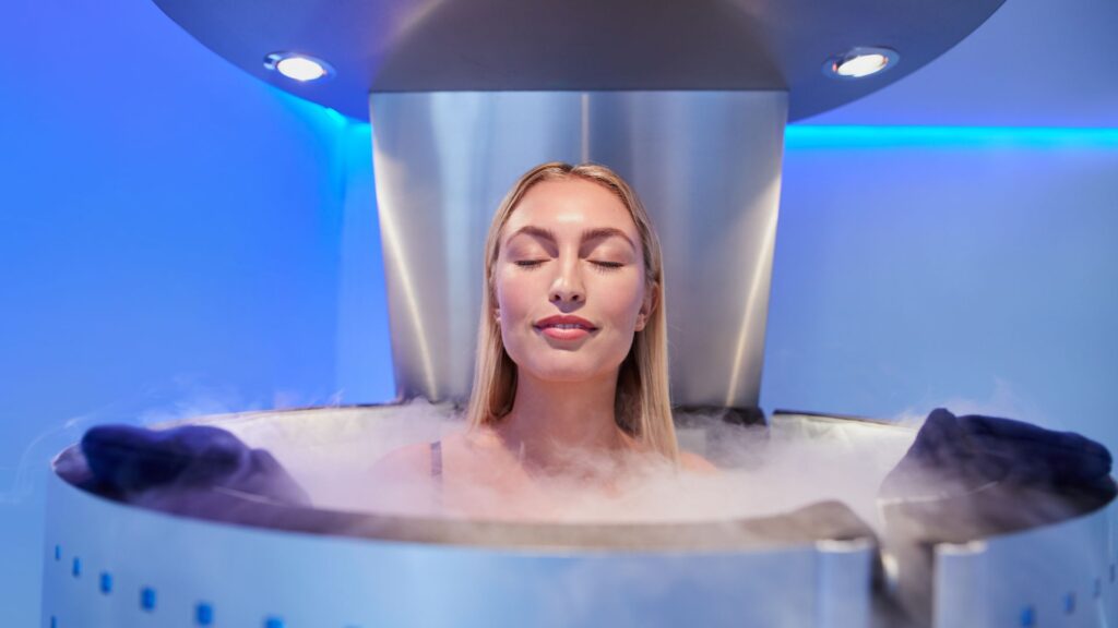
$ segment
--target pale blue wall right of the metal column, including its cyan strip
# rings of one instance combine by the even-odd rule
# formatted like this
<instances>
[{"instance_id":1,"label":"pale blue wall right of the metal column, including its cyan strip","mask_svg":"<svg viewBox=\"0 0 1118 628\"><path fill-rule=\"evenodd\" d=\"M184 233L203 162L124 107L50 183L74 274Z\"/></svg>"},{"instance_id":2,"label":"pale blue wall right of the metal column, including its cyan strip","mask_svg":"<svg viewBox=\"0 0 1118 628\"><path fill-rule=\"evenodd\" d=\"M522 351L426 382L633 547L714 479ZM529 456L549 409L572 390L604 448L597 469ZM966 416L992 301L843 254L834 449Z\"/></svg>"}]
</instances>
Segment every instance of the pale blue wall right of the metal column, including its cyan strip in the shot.
<instances>
[{"instance_id":1,"label":"pale blue wall right of the metal column, including its cyan strip","mask_svg":"<svg viewBox=\"0 0 1118 628\"><path fill-rule=\"evenodd\" d=\"M761 402L1118 447L1118 130L789 127Z\"/></svg>"}]
</instances>

